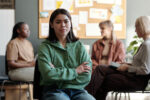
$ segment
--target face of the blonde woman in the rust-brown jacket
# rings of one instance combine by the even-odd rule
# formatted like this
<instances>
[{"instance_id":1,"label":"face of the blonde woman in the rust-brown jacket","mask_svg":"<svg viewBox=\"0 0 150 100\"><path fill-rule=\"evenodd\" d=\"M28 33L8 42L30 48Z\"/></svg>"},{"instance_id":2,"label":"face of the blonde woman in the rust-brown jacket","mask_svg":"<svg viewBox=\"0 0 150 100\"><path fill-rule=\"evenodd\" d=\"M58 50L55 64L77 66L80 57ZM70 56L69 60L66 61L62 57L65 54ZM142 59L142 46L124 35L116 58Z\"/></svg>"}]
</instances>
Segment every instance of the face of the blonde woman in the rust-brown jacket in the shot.
<instances>
[{"instance_id":1,"label":"face of the blonde woman in the rust-brown jacket","mask_svg":"<svg viewBox=\"0 0 150 100\"><path fill-rule=\"evenodd\" d=\"M106 38L111 37L111 33L112 33L112 28L111 27L108 27L106 25L101 25L100 29L101 29L102 37L106 37Z\"/></svg>"}]
</instances>

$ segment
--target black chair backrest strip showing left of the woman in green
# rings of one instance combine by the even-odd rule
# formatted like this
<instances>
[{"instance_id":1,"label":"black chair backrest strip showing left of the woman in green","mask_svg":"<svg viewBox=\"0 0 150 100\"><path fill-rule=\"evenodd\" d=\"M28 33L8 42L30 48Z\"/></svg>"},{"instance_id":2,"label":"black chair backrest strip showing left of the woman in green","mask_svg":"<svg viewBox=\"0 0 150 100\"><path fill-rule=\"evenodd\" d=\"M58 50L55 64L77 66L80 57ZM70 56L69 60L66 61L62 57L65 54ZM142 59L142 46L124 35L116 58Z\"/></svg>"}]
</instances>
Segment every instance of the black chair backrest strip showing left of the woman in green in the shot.
<instances>
[{"instance_id":1,"label":"black chair backrest strip showing left of the woman in green","mask_svg":"<svg viewBox=\"0 0 150 100\"><path fill-rule=\"evenodd\" d=\"M42 96L42 86L40 86L40 72L38 69L38 61L36 60L35 70L34 70L34 82L33 82L33 98L41 99Z\"/></svg>"}]
</instances>

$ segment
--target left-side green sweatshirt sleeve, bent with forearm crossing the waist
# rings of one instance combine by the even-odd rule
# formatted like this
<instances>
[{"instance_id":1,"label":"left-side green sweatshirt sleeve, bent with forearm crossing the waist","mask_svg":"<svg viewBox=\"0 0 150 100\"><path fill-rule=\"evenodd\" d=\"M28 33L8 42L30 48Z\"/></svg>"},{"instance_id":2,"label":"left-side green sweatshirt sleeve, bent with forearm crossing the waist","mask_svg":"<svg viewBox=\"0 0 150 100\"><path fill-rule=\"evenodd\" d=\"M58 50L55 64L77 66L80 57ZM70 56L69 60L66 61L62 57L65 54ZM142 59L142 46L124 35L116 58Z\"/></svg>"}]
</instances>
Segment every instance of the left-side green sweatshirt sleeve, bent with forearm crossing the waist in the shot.
<instances>
[{"instance_id":1,"label":"left-side green sweatshirt sleeve, bent with forearm crossing the waist","mask_svg":"<svg viewBox=\"0 0 150 100\"><path fill-rule=\"evenodd\" d=\"M52 49L42 44L38 50L38 66L42 75L42 83L49 84L56 81L68 81L75 79L78 74L74 68L52 67L50 64L54 57Z\"/></svg>"}]
</instances>

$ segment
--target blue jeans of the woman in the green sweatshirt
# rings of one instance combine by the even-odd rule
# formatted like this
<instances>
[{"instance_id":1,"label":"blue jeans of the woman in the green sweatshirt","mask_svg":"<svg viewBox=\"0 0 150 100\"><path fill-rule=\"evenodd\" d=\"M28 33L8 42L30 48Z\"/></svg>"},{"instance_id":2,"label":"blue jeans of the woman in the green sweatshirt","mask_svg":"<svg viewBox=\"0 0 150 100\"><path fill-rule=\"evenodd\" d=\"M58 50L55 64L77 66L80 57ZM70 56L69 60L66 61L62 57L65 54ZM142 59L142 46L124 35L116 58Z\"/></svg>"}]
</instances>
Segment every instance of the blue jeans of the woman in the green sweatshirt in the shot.
<instances>
[{"instance_id":1,"label":"blue jeans of the woman in the green sweatshirt","mask_svg":"<svg viewBox=\"0 0 150 100\"><path fill-rule=\"evenodd\" d=\"M42 100L95 100L86 90L49 89L43 90Z\"/></svg>"}]
</instances>

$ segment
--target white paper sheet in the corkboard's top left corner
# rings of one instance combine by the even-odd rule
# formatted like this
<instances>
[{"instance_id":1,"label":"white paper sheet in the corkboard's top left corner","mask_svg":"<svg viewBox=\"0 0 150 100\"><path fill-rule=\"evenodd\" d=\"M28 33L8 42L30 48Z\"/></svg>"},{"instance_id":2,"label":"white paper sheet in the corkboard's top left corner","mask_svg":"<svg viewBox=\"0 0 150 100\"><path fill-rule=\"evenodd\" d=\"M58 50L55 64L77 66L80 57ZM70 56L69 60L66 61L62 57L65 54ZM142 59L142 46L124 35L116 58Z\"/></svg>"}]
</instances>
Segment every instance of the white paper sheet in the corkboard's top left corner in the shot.
<instances>
[{"instance_id":1,"label":"white paper sheet in the corkboard's top left corner","mask_svg":"<svg viewBox=\"0 0 150 100\"><path fill-rule=\"evenodd\" d=\"M43 10L55 10L56 0L43 0Z\"/></svg>"}]
</instances>

